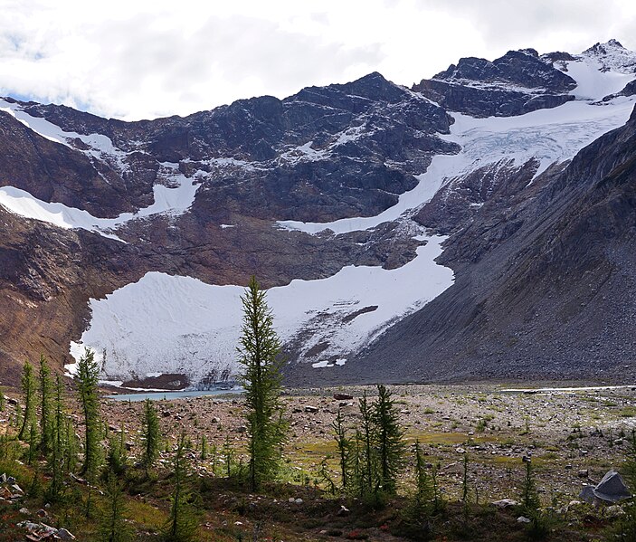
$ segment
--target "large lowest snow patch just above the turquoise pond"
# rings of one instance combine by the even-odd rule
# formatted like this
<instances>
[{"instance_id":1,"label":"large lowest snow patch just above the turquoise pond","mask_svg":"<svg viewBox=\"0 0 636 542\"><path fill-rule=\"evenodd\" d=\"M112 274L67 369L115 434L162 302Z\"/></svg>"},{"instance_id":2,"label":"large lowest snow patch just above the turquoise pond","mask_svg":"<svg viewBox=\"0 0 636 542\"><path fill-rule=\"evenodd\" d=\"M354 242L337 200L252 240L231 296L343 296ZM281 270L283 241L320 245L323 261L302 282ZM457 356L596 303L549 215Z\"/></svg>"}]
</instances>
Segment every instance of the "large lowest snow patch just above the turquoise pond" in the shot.
<instances>
[{"instance_id":1,"label":"large lowest snow patch just above the turquoise pond","mask_svg":"<svg viewBox=\"0 0 636 542\"><path fill-rule=\"evenodd\" d=\"M434 261L444 239L427 237L413 261L398 269L352 265L327 279L294 280L268 290L280 338L299 344L308 362L318 357L313 363L328 358L336 360L328 364L344 365L396 319L451 286L451 269ZM235 372L243 293L239 286L148 272L105 300L90 300L90 328L73 343L71 355L78 359L84 346L96 353L105 348L109 377L164 372L196 381L226 367ZM377 309L360 310L370 306ZM318 346L319 355L312 355Z\"/></svg>"}]
</instances>

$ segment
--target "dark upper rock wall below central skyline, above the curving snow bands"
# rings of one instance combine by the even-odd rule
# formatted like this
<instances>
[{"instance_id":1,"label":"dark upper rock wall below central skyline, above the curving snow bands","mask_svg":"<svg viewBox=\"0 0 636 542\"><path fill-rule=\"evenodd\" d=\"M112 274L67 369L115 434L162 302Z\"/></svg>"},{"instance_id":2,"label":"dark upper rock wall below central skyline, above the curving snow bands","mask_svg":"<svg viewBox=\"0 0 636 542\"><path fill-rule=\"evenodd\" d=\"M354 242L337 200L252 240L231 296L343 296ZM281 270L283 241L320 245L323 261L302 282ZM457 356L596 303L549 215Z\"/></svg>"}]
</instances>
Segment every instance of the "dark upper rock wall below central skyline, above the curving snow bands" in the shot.
<instances>
[{"instance_id":1,"label":"dark upper rock wall below central skyline, above the curving snow bands","mask_svg":"<svg viewBox=\"0 0 636 542\"><path fill-rule=\"evenodd\" d=\"M58 193L43 187L33 191L28 178L12 181L46 201L80 208L94 201L108 209L117 201L116 209L124 212L150 204L157 164L171 162L186 176L200 172L201 193L209 204L235 213L302 221L373 215L413 188L413 175L425 171L433 154L459 150L438 137L448 133L451 122L444 109L379 73L344 85L310 87L286 100L271 96L238 100L183 119L125 123L63 106L23 105L29 114L66 131L103 134L127 153L118 169L105 157L89 160L68 147L58 149L75 176L95 178L84 181L86 190L74 197L71 192L77 192L77 183L69 194L58 194L61 188ZM10 138L16 140L14 134ZM36 139L41 147L55 145ZM80 141L71 143L85 150ZM25 162L32 167L37 163L31 156ZM12 165L5 170L11 171ZM100 178L104 172L108 184ZM41 174L37 171L29 178ZM61 184L62 174L52 176L50 185ZM210 191L214 195L206 194Z\"/></svg>"}]
</instances>

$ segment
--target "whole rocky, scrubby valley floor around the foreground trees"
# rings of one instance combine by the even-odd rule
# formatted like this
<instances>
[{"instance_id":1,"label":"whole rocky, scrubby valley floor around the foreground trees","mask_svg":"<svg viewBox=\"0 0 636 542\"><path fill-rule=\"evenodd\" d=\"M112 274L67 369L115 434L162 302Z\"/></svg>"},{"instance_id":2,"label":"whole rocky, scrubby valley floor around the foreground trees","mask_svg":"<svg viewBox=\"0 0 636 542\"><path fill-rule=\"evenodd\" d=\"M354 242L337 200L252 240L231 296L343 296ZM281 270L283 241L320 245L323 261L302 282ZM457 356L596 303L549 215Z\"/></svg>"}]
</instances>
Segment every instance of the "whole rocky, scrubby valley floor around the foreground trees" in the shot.
<instances>
[{"instance_id":1,"label":"whole rocky, scrubby valley floor around the foreground trees","mask_svg":"<svg viewBox=\"0 0 636 542\"><path fill-rule=\"evenodd\" d=\"M495 528L497 539L521 540L526 524L519 522L528 518L520 515L516 503L521 500L530 461L541 506L552 510L559 520L554 539L609 539L605 531L624 514L624 503L594 506L585 502L589 499L581 491L587 487L588 492L593 488L601 494L597 484L603 476L612 469L622 471L636 427L636 386L524 391L494 384L395 385L390 389L409 450L418 440L428 465L439 467L438 485L448 500L448 509L435 519L438 535L467 539L461 530L466 528L466 520L460 502L466 465L473 511L470 539L491 540ZM204 504L202 540L245 539L261 528L264 537L273 534L277 540L404 540L399 532L400 510L413 494L413 457L405 462L398 497L381 510L369 509L353 497L328 493L328 479L339 482L331 425L341 409L349 434L353 434L359 422L357 400L365 393L373 401L376 389L286 390L281 401L290 421L290 439L283 451L281 478L258 494L226 478L228 450L234 468L241 462L244 465L246 459L241 395L155 402L166 437L159 458L163 467L153 475L159 483L147 485L138 480L134 483L141 485L127 498L130 517L134 518L129 521L139 539L156 539L165 521L171 459L176 437L183 431L188 437L186 456L194 474L192 484ZM5 411L0 412L2 433L12 432L7 423L14 419L20 401L13 393L7 394ZM68 406L71 412L79 412L71 401ZM120 434L122 428L125 431L123 441L131 464L139 457L143 443L139 433L143 406L141 401L105 397L100 405L110 436ZM80 416L73 417L81 433ZM0 532L1 540L14 540L18 535L31 540L85 539L92 532L94 526L82 523L77 515L73 522L66 522L68 510L65 512L63 506L47 508L46 501L28 498L33 475L22 461L5 463L2 471L6 476L0 477L0 508L8 515L0 515L0 523L5 521L11 528ZM131 476L134 480L134 472ZM14 487L18 478L21 487ZM74 489L78 495L88 488L85 480L74 476L71 480L78 482Z\"/></svg>"}]
</instances>

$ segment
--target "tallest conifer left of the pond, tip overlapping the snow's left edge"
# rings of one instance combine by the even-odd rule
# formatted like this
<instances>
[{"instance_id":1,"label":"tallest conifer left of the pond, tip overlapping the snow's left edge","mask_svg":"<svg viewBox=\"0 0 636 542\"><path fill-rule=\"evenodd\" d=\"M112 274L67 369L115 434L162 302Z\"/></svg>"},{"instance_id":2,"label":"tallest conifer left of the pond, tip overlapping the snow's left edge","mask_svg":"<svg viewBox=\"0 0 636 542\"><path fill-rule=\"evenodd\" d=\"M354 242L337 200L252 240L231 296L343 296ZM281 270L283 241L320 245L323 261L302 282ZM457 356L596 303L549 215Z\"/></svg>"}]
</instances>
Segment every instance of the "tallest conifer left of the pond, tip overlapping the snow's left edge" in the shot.
<instances>
[{"instance_id":1,"label":"tallest conifer left of the pond, tip overlapping the snow's left edge","mask_svg":"<svg viewBox=\"0 0 636 542\"><path fill-rule=\"evenodd\" d=\"M90 348L85 348L77 366L77 388L84 418L84 462L81 474L94 476L100 466L99 366Z\"/></svg>"}]
</instances>

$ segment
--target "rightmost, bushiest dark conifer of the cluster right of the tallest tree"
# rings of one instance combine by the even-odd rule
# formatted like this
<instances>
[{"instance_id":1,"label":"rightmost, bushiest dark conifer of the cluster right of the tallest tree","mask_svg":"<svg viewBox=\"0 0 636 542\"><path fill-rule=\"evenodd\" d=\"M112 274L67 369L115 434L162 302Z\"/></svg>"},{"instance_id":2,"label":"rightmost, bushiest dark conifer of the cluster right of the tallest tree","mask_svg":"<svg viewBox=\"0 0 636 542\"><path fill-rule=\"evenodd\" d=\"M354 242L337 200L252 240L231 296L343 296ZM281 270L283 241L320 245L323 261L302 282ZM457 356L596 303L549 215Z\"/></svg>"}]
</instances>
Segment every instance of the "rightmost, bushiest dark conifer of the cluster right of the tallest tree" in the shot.
<instances>
[{"instance_id":1,"label":"rightmost, bushiest dark conifer of the cluster right of the tallest tree","mask_svg":"<svg viewBox=\"0 0 636 542\"><path fill-rule=\"evenodd\" d=\"M400 414L391 392L384 386L377 386L378 397L373 405L373 422L375 423L376 448L379 463L379 475L382 489L389 495L396 491L395 481L403 467L404 430L400 425Z\"/></svg>"}]
</instances>

